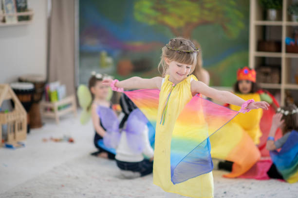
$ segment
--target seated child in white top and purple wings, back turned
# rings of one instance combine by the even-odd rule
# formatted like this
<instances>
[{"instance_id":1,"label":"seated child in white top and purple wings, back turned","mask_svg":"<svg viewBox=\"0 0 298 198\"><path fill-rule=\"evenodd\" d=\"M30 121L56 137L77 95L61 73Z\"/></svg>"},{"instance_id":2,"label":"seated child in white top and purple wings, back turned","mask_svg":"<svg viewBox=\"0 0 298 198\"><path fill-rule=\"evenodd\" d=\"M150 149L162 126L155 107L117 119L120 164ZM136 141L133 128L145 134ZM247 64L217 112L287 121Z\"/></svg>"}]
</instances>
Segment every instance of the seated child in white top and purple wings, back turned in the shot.
<instances>
[{"instance_id":1,"label":"seated child in white top and purple wings, back turned","mask_svg":"<svg viewBox=\"0 0 298 198\"><path fill-rule=\"evenodd\" d=\"M125 178L148 175L153 170L153 149L149 143L148 120L124 94L121 96L120 106L125 115L119 125L122 131L120 142L116 148L117 166ZM139 118L142 116L145 118L144 121L137 124L136 122L140 121ZM149 160L144 159L143 154Z\"/></svg>"}]
</instances>

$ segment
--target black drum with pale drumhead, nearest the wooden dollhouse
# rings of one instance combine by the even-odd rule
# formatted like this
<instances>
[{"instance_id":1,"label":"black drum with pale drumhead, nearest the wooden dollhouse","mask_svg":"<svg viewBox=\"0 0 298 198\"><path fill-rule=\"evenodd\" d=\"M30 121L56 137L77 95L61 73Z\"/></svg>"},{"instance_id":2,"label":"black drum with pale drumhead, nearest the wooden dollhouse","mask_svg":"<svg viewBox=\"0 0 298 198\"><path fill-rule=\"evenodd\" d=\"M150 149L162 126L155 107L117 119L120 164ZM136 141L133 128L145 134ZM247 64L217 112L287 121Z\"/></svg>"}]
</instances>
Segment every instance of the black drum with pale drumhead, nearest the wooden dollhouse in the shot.
<instances>
[{"instance_id":1,"label":"black drum with pale drumhead, nearest the wooden dollhouse","mask_svg":"<svg viewBox=\"0 0 298 198\"><path fill-rule=\"evenodd\" d=\"M14 83L11 83L10 86L27 112L27 133L29 133L30 132L29 110L33 103L33 94L35 92L34 85L31 82L14 82Z\"/></svg>"}]
</instances>

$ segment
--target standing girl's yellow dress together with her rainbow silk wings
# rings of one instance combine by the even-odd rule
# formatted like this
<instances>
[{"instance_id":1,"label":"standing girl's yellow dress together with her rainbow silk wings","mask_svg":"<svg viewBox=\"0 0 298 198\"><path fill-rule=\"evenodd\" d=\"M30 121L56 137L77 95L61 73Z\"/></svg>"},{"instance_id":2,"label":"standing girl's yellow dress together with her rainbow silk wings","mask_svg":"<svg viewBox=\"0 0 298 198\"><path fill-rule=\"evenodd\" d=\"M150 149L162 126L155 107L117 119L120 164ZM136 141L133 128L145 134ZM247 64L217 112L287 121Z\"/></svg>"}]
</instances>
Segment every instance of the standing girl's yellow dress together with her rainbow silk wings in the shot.
<instances>
[{"instance_id":1,"label":"standing girl's yellow dress together with her rainbow silk wings","mask_svg":"<svg viewBox=\"0 0 298 198\"><path fill-rule=\"evenodd\" d=\"M153 182L167 192L213 197L209 136L238 114L192 96L191 79L173 85L165 77L161 90L125 92L156 126Z\"/></svg>"}]
</instances>

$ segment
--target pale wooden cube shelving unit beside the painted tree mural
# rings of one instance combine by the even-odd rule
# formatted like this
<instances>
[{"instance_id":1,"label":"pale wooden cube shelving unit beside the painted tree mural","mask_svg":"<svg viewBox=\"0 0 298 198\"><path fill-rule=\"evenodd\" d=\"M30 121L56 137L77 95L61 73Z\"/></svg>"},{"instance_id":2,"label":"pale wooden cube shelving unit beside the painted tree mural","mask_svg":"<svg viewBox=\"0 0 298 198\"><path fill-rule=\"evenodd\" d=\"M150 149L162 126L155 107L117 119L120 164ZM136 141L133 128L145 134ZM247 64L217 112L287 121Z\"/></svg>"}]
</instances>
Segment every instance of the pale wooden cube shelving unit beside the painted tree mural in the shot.
<instances>
[{"instance_id":1,"label":"pale wooden cube shelving unit beside the painted tree mural","mask_svg":"<svg viewBox=\"0 0 298 198\"><path fill-rule=\"evenodd\" d=\"M290 82L291 63L294 59L298 61L298 53L287 53L285 38L292 37L293 27L297 26L298 22L291 21L291 16L287 13L287 8L293 2L292 0L283 0L282 9L279 12L277 21L267 21L263 17L264 10L259 4L259 0L250 0L250 35L249 35L249 67L256 68L260 65L261 58L279 58L280 59L280 84L276 83L261 83L264 89L276 89L280 91L281 105L285 105L285 92L292 90L298 92L298 84ZM258 41L263 39L264 33L262 27L276 27L281 30L279 41L281 42L280 52L265 52L258 51ZM298 71L298 65L295 66Z\"/></svg>"}]
</instances>

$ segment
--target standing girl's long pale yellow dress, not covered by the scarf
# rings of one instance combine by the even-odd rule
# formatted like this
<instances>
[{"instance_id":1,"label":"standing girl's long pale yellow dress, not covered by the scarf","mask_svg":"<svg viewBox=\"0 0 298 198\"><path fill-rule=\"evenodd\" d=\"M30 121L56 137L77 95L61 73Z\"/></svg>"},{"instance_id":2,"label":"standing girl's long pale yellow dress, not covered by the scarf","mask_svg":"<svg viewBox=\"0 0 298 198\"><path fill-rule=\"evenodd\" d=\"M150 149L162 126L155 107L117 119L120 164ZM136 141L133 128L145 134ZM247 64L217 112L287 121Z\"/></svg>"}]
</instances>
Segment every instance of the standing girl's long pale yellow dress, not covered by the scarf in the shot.
<instances>
[{"instance_id":1,"label":"standing girl's long pale yellow dress, not covered by the scarf","mask_svg":"<svg viewBox=\"0 0 298 198\"><path fill-rule=\"evenodd\" d=\"M162 117L163 107L167 102L168 95L173 87L173 83L168 81L169 76L165 77L162 84L157 113L157 124L155 131L155 148L153 164L153 183L160 186L164 191L177 193L193 198L212 198L213 197L213 175L212 172L200 175L187 181L173 184L170 173L170 147L171 137L175 122L186 104L192 99L190 91L191 75L173 88L164 125L159 123Z\"/></svg>"}]
</instances>

